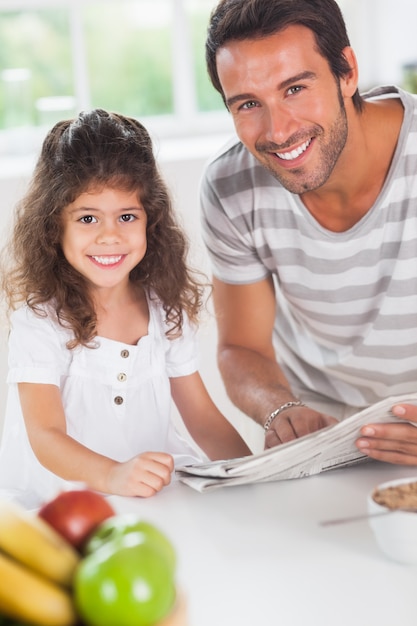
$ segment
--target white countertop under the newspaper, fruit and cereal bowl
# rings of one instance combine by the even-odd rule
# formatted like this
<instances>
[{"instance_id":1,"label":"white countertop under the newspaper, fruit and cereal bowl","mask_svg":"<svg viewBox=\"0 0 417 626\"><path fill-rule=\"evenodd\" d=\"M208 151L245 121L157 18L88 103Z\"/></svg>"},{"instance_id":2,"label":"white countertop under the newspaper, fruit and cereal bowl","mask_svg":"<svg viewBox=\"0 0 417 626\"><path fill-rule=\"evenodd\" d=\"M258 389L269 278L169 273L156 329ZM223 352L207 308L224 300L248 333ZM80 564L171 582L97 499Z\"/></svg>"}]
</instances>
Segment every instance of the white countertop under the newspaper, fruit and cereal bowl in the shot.
<instances>
[{"instance_id":1,"label":"white countertop under the newspaper, fruit and cereal bowl","mask_svg":"<svg viewBox=\"0 0 417 626\"><path fill-rule=\"evenodd\" d=\"M378 483L417 468L369 463L292 481L198 493L175 481L149 499L112 497L174 543L189 626L416 626L417 566L389 561L367 521Z\"/></svg>"}]
</instances>

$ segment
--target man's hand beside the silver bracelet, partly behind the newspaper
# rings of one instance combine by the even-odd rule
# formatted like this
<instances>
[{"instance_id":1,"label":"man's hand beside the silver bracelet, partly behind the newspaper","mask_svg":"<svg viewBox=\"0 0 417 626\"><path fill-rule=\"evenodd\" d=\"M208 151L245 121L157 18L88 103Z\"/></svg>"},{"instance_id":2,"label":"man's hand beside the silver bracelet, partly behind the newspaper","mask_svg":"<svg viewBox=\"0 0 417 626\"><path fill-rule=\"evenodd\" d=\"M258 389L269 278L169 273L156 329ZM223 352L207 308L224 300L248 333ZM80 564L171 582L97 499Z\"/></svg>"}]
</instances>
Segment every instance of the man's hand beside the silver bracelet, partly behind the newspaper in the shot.
<instances>
[{"instance_id":1,"label":"man's hand beside the silver bracelet, partly behind the newspaper","mask_svg":"<svg viewBox=\"0 0 417 626\"><path fill-rule=\"evenodd\" d=\"M265 435L265 448L273 448L336 423L334 417L318 413L308 406L291 407L273 420Z\"/></svg>"}]
</instances>

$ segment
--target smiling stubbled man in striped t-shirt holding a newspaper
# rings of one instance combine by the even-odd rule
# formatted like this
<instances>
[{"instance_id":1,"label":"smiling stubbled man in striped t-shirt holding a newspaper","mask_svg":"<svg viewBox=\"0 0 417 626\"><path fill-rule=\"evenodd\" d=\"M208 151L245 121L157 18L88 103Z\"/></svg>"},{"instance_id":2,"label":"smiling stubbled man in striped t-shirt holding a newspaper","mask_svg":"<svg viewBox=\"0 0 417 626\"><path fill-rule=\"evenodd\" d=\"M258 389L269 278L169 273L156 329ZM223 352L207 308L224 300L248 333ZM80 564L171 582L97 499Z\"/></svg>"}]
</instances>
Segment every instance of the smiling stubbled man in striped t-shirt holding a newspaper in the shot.
<instances>
[{"instance_id":1,"label":"smiling stubbled man in striped t-shirt holding a newspaper","mask_svg":"<svg viewBox=\"0 0 417 626\"><path fill-rule=\"evenodd\" d=\"M208 71L239 140L208 165L219 367L272 447L417 391L417 102L361 97L334 0L221 0ZM417 407L364 427L417 465Z\"/></svg>"}]
</instances>

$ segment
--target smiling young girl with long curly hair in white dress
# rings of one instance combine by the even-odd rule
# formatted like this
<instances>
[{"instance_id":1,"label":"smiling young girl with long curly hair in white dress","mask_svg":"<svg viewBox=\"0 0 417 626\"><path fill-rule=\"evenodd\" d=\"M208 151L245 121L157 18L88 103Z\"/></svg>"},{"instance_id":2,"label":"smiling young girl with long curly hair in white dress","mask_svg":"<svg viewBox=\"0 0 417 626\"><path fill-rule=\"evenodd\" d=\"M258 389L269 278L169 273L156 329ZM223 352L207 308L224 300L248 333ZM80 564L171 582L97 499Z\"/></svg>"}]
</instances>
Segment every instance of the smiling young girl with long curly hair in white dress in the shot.
<instances>
[{"instance_id":1,"label":"smiling young girl with long curly hair in white dress","mask_svg":"<svg viewBox=\"0 0 417 626\"><path fill-rule=\"evenodd\" d=\"M103 110L47 135L7 251L9 397L0 488L27 507L68 486L150 496L175 463L250 450L197 371L203 286L145 128Z\"/></svg>"}]
</instances>

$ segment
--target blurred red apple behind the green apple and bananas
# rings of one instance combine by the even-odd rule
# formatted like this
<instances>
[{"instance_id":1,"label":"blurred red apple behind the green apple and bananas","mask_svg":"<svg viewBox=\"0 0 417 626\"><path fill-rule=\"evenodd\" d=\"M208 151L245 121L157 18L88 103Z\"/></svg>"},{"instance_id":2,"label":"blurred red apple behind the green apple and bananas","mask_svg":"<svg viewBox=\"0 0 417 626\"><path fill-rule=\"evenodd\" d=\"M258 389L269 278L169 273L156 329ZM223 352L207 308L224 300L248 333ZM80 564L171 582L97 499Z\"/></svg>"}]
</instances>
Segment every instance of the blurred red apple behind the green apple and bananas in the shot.
<instances>
[{"instance_id":1,"label":"blurred red apple behind the green apple and bananas","mask_svg":"<svg viewBox=\"0 0 417 626\"><path fill-rule=\"evenodd\" d=\"M38 511L39 517L79 551L97 526L115 514L104 496L89 489L62 491Z\"/></svg>"}]
</instances>

